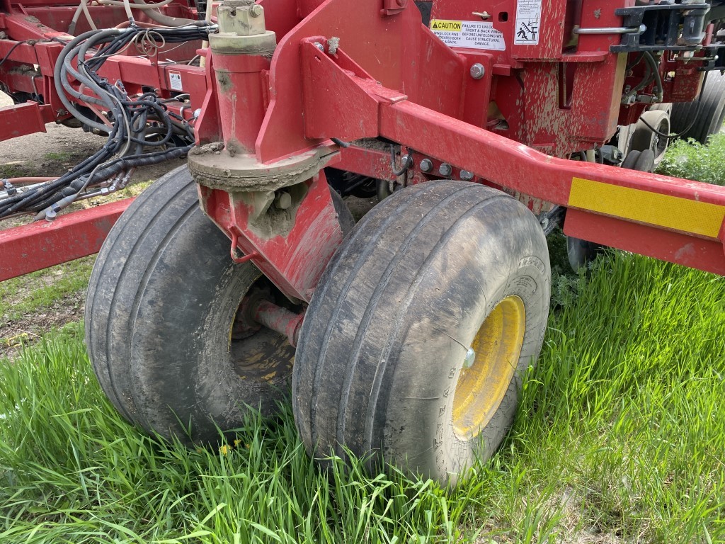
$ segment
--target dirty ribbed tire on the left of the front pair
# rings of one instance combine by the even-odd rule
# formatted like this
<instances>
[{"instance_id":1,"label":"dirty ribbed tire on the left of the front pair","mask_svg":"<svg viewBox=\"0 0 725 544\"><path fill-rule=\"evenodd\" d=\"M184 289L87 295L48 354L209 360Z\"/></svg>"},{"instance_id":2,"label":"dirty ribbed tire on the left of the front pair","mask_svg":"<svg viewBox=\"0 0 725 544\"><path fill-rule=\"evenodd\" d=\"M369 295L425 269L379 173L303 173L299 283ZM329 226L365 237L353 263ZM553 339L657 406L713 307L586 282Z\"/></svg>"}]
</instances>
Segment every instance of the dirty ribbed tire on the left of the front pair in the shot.
<instances>
[{"instance_id":1,"label":"dirty ribbed tire on the left of the front pair","mask_svg":"<svg viewBox=\"0 0 725 544\"><path fill-rule=\"evenodd\" d=\"M147 432L215 442L216 426L243 423L244 403L269 413L289 386L294 349L281 334L231 339L261 273L234 264L229 247L182 167L146 189L101 248L86 300L88 353L111 402Z\"/></svg>"}]
</instances>

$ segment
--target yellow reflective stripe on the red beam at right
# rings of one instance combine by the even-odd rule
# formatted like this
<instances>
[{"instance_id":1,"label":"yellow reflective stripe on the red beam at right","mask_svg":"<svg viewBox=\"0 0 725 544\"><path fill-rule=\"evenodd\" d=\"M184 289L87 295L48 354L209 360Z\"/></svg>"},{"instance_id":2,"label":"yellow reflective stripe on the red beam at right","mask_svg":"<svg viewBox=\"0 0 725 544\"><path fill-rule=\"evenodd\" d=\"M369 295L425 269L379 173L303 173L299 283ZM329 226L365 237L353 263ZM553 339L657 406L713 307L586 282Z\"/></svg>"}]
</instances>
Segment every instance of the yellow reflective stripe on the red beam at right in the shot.
<instances>
[{"instance_id":1,"label":"yellow reflective stripe on the red beam at right","mask_svg":"<svg viewBox=\"0 0 725 544\"><path fill-rule=\"evenodd\" d=\"M717 238L725 206L572 178L569 206Z\"/></svg>"}]
</instances>

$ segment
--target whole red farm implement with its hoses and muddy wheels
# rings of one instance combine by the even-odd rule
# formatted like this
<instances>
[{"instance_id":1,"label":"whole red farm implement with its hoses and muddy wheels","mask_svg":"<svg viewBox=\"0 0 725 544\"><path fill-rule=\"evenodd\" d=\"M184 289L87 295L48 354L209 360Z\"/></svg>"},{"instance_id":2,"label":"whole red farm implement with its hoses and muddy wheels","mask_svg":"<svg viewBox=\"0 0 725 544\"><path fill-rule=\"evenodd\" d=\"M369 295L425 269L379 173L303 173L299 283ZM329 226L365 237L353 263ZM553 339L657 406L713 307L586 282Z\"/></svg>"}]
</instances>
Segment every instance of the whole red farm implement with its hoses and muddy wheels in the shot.
<instances>
[{"instance_id":1,"label":"whole red farm implement with its hoses and muddy wheels","mask_svg":"<svg viewBox=\"0 0 725 544\"><path fill-rule=\"evenodd\" d=\"M214 440L291 381L310 453L455 483L539 354L555 226L575 268L610 246L725 275L725 189L652 173L723 123L720 1L0 6L0 139L108 139L3 181L0 218L38 221L0 233L0 279L100 249L88 350L149 431ZM55 218L183 155L123 215ZM347 194L380 203L355 225Z\"/></svg>"}]
</instances>

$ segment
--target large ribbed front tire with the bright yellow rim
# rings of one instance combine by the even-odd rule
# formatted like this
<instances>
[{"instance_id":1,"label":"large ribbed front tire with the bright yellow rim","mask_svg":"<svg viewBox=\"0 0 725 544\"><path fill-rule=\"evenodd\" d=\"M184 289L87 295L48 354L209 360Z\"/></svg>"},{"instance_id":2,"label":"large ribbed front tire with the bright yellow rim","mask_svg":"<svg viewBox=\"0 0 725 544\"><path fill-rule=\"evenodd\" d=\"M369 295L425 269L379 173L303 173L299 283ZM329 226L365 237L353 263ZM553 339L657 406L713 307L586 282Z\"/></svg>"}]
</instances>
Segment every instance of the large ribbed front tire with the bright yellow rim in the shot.
<instances>
[{"instance_id":1,"label":"large ribbed front tire with the bright yellow rim","mask_svg":"<svg viewBox=\"0 0 725 544\"><path fill-rule=\"evenodd\" d=\"M455 485L512 424L549 299L546 237L521 202L461 181L396 191L307 309L292 376L305 448Z\"/></svg>"}]
</instances>

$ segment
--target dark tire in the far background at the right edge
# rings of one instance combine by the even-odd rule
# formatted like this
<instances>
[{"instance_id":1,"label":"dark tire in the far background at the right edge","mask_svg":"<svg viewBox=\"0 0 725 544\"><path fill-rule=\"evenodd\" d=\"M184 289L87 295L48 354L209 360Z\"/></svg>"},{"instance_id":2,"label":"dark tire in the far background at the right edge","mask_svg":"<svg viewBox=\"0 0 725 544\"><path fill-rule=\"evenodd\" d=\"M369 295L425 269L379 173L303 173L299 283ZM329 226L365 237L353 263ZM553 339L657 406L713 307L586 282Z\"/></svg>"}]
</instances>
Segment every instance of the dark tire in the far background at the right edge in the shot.
<instances>
[{"instance_id":1,"label":"dark tire in the far background at the right edge","mask_svg":"<svg viewBox=\"0 0 725 544\"><path fill-rule=\"evenodd\" d=\"M682 138L692 138L706 144L708 138L720 131L725 120L725 75L708 73L702 99L674 104L670 115L671 131ZM689 128L688 128L689 127Z\"/></svg>"}]
</instances>

